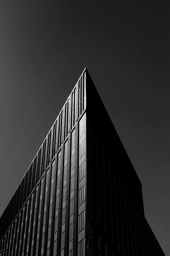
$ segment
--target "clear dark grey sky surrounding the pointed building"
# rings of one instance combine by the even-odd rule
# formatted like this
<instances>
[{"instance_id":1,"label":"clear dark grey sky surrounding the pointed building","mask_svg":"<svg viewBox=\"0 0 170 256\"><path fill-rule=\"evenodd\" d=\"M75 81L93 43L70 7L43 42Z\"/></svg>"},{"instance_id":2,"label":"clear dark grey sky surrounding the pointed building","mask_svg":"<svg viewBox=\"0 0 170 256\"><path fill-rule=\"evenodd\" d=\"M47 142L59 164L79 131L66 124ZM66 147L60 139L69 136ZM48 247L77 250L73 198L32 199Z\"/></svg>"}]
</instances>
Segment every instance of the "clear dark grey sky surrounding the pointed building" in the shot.
<instances>
[{"instance_id":1,"label":"clear dark grey sky surrounding the pointed building","mask_svg":"<svg viewBox=\"0 0 170 256\"><path fill-rule=\"evenodd\" d=\"M0 215L87 67L169 255L169 6L116 2L1 1Z\"/></svg>"}]
</instances>

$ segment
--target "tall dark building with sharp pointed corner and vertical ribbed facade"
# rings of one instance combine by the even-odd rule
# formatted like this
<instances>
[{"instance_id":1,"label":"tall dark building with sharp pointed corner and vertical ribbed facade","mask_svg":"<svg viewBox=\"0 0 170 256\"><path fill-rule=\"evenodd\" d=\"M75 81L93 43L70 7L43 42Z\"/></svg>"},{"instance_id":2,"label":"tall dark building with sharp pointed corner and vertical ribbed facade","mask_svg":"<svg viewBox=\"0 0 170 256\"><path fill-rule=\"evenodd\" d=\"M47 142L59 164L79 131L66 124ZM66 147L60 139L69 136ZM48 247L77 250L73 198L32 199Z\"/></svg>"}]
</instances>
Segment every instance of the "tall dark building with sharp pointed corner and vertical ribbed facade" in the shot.
<instances>
[{"instance_id":1,"label":"tall dark building with sharp pointed corner and vertical ribbed facade","mask_svg":"<svg viewBox=\"0 0 170 256\"><path fill-rule=\"evenodd\" d=\"M0 218L0 250L164 255L145 219L142 184L86 68Z\"/></svg>"}]
</instances>

